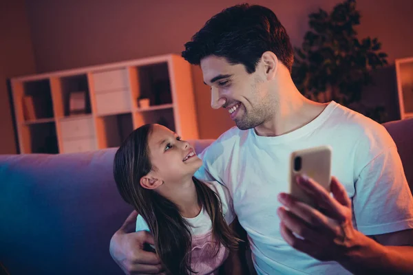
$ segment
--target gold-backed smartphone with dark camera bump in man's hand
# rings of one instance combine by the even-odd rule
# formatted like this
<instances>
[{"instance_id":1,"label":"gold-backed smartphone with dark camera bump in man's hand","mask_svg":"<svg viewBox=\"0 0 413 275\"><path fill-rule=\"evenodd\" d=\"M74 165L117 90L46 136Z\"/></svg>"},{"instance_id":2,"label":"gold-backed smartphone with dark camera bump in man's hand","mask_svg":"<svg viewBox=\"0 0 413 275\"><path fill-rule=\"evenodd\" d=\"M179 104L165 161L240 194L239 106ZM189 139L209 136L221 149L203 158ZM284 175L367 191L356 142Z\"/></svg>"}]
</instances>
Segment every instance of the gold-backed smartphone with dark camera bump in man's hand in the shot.
<instances>
[{"instance_id":1,"label":"gold-backed smartphone with dark camera bump in man's hand","mask_svg":"<svg viewBox=\"0 0 413 275\"><path fill-rule=\"evenodd\" d=\"M331 155L332 148L330 146L317 146L291 153L290 195L293 195L293 197L299 199L299 201L317 208L317 201L314 201L306 191L298 186L295 177L305 174L330 192Z\"/></svg>"}]
</instances>

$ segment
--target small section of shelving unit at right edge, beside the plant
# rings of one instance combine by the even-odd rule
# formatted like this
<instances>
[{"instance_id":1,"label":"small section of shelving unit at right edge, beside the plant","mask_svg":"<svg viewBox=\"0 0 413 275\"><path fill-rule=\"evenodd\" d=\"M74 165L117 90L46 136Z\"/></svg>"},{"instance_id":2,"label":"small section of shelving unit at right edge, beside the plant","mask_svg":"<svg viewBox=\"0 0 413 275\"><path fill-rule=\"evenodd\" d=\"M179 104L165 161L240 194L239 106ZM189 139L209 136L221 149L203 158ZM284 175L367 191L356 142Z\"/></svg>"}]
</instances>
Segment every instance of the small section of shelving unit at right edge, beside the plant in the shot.
<instances>
[{"instance_id":1,"label":"small section of shelving unit at right edge, beside the plant","mask_svg":"<svg viewBox=\"0 0 413 275\"><path fill-rule=\"evenodd\" d=\"M396 59L400 118L413 118L413 57Z\"/></svg>"}]
</instances>

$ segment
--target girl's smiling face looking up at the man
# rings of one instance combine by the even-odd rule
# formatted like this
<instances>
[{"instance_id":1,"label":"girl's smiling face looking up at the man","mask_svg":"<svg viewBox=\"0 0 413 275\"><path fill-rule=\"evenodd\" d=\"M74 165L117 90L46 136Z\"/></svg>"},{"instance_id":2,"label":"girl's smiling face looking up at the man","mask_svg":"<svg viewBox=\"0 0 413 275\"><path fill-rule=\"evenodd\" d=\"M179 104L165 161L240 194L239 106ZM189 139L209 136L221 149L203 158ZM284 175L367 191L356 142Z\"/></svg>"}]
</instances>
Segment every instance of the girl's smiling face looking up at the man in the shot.
<instances>
[{"instance_id":1,"label":"girl's smiling face looking up at the man","mask_svg":"<svg viewBox=\"0 0 413 275\"><path fill-rule=\"evenodd\" d=\"M148 146L154 177L165 183L180 183L191 178L202 165L192 146L165 126L153 125Z\"/></svg>"}]
</instances>

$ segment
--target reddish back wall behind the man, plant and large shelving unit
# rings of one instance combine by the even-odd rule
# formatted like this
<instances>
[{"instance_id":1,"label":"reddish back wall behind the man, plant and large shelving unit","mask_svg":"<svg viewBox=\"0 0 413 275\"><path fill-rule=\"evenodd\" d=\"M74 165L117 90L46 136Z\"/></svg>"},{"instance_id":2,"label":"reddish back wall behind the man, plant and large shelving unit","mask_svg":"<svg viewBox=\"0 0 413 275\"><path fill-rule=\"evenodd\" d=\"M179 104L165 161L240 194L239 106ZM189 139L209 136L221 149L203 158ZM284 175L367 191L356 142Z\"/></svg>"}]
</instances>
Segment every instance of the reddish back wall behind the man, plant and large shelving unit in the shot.
<instances>
[{"instance_id":1,"label":"reddish back wall behind the man, plant and large shelving unit","mask_svg":"<svg viewBox=\"0 0 413 275\"><path fill-rule=\"evenodd\" d=\"M300 45L308 14L325 10L335 0L254 1L271 8L286 27L293 45ZM27 1L34 55L39 72L96 65L130 58L180 53L183 45L213 14L238 1ZM360 36L377 36L394 58L413 56L413 1L360 0ZM209 89L193 68L200 137L215 138L233 126L225 111L209 107ZM383 82L382 74L378 78ZM396 113L394 69L385 70L387 85L369 88L367 98L390 104ZM378 96L379 95L379 96Z\"/></svg>"}]
</instances>

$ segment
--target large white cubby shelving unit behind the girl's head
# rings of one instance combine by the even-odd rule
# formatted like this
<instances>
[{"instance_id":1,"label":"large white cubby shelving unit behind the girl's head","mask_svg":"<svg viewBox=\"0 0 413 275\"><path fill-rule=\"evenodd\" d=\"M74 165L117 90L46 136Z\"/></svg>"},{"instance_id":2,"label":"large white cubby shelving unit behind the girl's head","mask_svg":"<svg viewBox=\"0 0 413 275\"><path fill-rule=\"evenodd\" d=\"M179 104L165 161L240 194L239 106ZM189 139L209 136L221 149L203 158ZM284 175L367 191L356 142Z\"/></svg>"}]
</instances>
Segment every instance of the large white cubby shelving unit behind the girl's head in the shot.
<instances>
[{"instance_id":1,"label":"large white cubby shelving unit behind the girl's head","mask_svg":"<svg viewBox=\"0 0 413 275\"><path fill-rule=\"evenodd\" d=\"M134 129L164 124L198 139L191 65L174 54L12 78L21 153L76 153L120 146ZM71 114L70 94L85 91L86 109ZM32 98L32 115L27 102ZM138 98L149 98L140 108Z\"/></svg>"}]
</instances>

